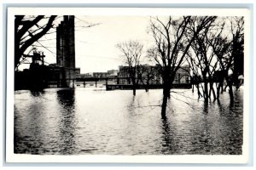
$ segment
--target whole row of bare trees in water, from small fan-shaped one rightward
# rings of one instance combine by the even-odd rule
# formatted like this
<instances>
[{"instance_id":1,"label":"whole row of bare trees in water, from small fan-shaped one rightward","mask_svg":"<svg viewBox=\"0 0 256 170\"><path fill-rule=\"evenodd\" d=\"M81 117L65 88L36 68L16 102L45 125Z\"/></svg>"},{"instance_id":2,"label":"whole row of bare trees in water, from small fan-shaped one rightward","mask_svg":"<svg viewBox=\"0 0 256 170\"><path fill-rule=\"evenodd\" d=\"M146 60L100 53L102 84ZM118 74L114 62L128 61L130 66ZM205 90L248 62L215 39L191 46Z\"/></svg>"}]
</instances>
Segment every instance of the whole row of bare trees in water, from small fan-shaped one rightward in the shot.
<instances>
[{"instance_id":1,"label":"whole row of bare trees in water, from small fan-shaped one rightward","mask_svg":"<svg viewBox=\"0 0 256 170\"><path fill-rule=\"evenodd\" d=\"M243 74L243 27L242 17L170 16L150 19L154 46L148 48L147 56L159 65L163 80L163 117L171 97L172 82L177 70L184 64L190 67L191 82L195 84L199 98L206 101L218 99L219 94L229 87L230 100L233 100L232 87L234 84L239 87L238 77ZM143 44L129 41L119 43L117 47L125 56L133 94L136 95L136 75Z\"/></svg>"}]
</instances>

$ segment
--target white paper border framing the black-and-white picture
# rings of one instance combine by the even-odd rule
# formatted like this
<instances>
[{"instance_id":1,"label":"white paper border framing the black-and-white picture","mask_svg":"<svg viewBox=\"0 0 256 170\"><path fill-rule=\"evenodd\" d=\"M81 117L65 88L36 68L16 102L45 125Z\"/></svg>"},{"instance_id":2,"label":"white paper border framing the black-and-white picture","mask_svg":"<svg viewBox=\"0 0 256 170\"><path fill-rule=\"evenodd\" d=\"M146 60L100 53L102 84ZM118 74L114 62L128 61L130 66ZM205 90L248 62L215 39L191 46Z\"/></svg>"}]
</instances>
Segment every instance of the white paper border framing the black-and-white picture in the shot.
<instances>
[{"instance_id":1,"label":"white paper border framing the black-and-white picture","mask_svg":"<svg viewBox=\"0 0 256 170\"><path fill-rule=\"evenodd\" d=\"M221 15L245 17L244 67L244 135L241 156L32 156L14 154L14 19L15 14L74 14L74 15ZM247 163L249 82L249 10L238 8L8 8L7 42L7 162L122 162L122 163Z\"/></svg>"}]
</instances>

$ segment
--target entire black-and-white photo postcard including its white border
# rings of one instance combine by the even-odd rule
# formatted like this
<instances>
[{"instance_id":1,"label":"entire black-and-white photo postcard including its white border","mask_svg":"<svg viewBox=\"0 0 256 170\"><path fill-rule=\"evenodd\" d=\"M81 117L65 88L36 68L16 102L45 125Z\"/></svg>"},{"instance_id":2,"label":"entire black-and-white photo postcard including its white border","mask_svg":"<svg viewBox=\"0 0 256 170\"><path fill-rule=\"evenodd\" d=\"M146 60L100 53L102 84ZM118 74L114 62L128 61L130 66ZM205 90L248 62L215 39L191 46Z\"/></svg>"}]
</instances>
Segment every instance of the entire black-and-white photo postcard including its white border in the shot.
<instances>
[{"instance_id":1,"label":"entire black-and-white photo postcard including its white border","mask_svg":"<svg viewBox=\"0 0 256 170\"><path fill-rule=\"evenodd\" d=\"M9 161L247 162L246 9L9 8L8 24Z\"/></svg>"}]
</instances>

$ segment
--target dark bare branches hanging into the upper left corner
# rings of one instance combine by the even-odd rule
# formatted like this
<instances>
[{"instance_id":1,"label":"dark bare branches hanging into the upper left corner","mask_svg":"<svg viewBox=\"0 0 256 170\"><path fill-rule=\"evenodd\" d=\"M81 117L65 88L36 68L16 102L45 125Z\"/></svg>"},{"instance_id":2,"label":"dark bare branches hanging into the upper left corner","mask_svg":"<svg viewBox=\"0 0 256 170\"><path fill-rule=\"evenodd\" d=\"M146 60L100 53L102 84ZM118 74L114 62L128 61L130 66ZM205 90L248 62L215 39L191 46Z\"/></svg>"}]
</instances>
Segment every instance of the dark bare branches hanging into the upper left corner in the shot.
<instances>
[{"instance_id":1,"label":"dark bare branches hanging into the upper left corner","mask_svg":"<svg viewBox=\"0 0 256 170\"><path fill-rule=\"evenodd\" d=\"M15 70L20 65L20 59L25 58L26 49L53 27L55 18L56 15L15 15Z\"/></svg>"}]
</instances>

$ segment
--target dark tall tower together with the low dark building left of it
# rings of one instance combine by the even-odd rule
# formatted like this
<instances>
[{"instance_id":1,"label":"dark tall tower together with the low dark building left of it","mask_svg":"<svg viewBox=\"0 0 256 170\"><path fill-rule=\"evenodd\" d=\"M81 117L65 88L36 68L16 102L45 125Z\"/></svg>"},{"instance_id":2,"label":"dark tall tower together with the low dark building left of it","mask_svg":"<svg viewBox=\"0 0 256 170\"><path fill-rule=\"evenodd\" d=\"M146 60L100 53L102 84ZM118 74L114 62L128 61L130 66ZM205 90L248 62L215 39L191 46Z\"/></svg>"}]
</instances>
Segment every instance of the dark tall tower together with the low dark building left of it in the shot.
<instances>
[{"instance_id":1,"label":"dark tall tower together with the low dark building left of it","mask_svg":"<svg viewBox=\"0 0 256 170\"><path fill-rule=\"evenodd\" d=\"M44 53L35 51L30 69L15 73L15 89L74 87L80 69L75 67L74 16L64 15L56 27L56 64L44 65ZM21 86L22 79L27 80ZM21 82L20 82L21 83Z\"/></svg>"}]
</instances>

